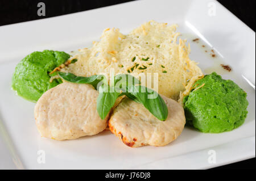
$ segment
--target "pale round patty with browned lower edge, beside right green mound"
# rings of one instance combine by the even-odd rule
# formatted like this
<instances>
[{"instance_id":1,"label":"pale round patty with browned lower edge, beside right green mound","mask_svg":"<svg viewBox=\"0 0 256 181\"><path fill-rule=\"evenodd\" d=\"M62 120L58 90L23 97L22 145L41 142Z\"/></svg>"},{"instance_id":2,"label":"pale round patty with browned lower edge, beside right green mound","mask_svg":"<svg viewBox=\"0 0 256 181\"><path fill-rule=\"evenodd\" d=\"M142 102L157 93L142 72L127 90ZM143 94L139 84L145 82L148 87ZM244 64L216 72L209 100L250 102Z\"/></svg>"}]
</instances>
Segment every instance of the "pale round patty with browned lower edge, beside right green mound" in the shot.
<instances>
[{"instance_id":1,"label":"pale round patty with browned lower edge, beside right green mound","mask_svg":"<svg viewBox=\"0 0 256 181\"><path fill-rule=\"evenodd\" d=\"M174 141L185 125L184 110L175 100L162 98L168 107L166 121L158 120L142 104L125 98L110 117L110 131L131 147L164 146Z\"/></svg>"}]
</instances>

